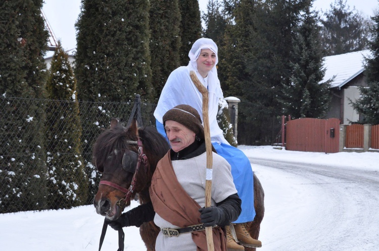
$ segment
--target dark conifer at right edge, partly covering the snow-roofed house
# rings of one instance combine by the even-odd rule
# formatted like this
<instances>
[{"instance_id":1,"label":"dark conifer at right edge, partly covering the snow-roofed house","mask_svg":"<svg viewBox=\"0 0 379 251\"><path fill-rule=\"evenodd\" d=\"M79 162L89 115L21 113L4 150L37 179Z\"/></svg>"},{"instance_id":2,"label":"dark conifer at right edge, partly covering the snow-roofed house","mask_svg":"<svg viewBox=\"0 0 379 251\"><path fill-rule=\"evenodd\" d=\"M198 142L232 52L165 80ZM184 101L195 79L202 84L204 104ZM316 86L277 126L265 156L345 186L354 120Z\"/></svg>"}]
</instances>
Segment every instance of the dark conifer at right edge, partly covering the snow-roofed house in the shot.
<instances>
[{"instance_id":1,"label":"dark conifer at right edge, partly covering the snow-roofed house","mask_svg":"<svg viewBox=\"0 0 379 251\"><path fill-rule=\"evenodd\" d=\"M361 97L353 103L354 109L364 115L363 121L372 125L379 124L379 13L372 18L371 56L366 58L368 87L360 87Z\"/></svg>"}]
</instances>

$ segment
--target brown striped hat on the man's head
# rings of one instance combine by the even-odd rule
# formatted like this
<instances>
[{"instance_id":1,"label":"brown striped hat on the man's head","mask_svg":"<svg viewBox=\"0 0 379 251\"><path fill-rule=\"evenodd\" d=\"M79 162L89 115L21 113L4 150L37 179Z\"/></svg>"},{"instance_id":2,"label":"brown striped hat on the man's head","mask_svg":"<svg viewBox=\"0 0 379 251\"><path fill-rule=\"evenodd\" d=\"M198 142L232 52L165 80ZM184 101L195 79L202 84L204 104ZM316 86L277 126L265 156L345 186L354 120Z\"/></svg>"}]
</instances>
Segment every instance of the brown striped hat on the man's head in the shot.
<instances>
[{"instance_id":1,"label":"brown striped hat on the man's head","mask_svg":"<svg viewBox=\"0 0 379 251\"><path fill-rule=\"evenodd\" d=\"M204 128L199 112L190 105L177 105L163 115L163 126L166 120L174 120L193 131L200 139L204 139ZM166 131L166 129L165 129Z\"/></svg>"}]
</instances>

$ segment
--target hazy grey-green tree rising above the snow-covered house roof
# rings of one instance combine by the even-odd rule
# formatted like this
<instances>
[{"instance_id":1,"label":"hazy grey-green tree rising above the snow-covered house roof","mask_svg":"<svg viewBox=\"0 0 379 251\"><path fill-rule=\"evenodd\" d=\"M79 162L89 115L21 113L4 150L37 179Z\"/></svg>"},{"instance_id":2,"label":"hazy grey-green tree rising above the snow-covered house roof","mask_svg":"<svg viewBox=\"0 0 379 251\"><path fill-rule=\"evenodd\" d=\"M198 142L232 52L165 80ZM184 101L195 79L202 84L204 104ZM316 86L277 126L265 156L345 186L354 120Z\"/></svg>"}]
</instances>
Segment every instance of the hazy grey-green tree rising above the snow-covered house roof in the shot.
<instances>
[{"instance_id":1,"label":"hazy grey-green tree rising above the snow-covered house roof","mask_svg":"<svg viewBox=\"0 0 379 251\"><path fill-rule=\"evenodd\" d=\"M335 0L330 10L321 19L321 41L326 55L338 55L368 48L370 37L366 20L354 8L346 5L346 0Z\"/></svg>"}]
</instances>

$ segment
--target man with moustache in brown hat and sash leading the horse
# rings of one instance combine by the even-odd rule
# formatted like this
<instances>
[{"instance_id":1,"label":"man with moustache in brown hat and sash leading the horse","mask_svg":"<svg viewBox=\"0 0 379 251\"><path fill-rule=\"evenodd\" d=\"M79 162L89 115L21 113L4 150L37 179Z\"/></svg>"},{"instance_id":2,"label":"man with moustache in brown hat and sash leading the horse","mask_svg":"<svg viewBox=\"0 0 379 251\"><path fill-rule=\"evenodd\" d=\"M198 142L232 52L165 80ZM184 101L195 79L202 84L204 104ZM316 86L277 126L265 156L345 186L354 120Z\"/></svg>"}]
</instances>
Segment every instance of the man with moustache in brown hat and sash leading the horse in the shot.
<instances>
[{"instance_id":1,"label":"man with moustache in brown hat and sash leading the horse","mask_svg":"<svg viewBox=\"0 0 379 251\"><path fill-rule=\"evenodd\" d=\"M153 174L152 203L123 213L108 224L118 230L154 219L161 229L156 250L191 251L207 250L204 229L212 226L215 250L226 251L225 233L220 226L229 225L241 213L230 165L213 152L212 206L204 208L206 149L200 115L189 105L177 105L164 114L163 125L171 149Z\"/></svg>"}]
</instances>

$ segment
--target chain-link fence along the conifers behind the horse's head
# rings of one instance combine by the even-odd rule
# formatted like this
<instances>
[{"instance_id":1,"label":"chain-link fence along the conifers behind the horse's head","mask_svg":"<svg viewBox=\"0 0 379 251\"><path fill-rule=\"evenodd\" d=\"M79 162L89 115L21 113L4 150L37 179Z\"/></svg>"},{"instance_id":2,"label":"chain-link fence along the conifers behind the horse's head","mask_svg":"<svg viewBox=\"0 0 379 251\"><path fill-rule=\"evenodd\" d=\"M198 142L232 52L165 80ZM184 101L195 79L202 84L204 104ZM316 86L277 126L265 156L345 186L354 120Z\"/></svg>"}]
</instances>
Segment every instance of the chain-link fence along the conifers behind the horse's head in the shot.
<instances>
[{"instance_id":1,"label":"chain-link fence along the conifers behind the horse's head","mask_svg":"<svg viewBox=\"0 0 379 251\"><path fill-rule=\"evenodd\" d=\"M0 213L88 205L92 146L112 117L155 126L155 104L0 98Z\"/></svg>"}]
</instances>

